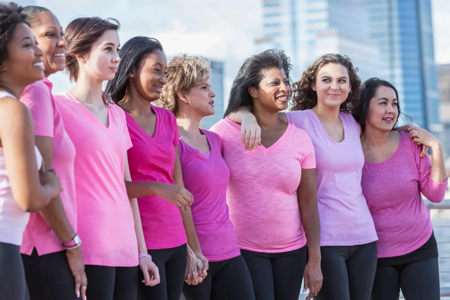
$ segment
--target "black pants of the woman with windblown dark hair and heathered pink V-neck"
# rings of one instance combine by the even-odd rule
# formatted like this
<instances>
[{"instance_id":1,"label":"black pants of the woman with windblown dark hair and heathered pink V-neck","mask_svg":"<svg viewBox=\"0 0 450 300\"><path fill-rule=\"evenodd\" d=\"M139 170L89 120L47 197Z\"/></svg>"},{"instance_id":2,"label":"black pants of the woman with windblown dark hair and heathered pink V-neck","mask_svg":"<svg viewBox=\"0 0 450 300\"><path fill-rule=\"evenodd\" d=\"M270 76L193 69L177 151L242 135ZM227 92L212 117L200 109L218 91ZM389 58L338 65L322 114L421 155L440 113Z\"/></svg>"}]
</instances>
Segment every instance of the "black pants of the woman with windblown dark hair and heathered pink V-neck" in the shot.
<instances>
[{"instance_id":1,"label":"black pants of the woman with windblown dark hair and heathered pink V-neck","mask_svg":"<svg viewBox=\"0 0 450 300\"><path fill-rule=\"evenodd\" d=\"M282 253L241 250L252 276L256 300L298 300L306 266L306 246Z\"/></svg>"}]
</instances>

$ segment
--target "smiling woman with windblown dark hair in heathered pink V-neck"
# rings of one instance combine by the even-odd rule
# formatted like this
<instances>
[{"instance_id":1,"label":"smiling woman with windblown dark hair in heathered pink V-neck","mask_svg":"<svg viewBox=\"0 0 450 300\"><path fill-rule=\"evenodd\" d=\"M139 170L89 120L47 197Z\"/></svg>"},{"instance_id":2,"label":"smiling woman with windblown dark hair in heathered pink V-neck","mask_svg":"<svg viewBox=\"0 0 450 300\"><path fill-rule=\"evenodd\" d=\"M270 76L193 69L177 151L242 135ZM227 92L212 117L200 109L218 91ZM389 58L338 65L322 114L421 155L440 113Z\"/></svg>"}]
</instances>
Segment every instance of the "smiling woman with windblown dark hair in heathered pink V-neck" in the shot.
<instances>
[{"instance_id":1,"label":"smiling woman with windblown dark hair in heathered pink V-neck","mask_svg":"<svg viewBox=\"0 0 450 300\"><path fill-rule=\"evenodd\" d=\"M307 299L322 286L314 146L305 130L279 118L288 108L290 70L283 51L266 50L247 58L233 81L225 116L252 107L260 148L244 150L241 125L230 119L211 128L222 138L229 216L257 300L297 300L302 278Z\"/></svg>"}]
</instances>

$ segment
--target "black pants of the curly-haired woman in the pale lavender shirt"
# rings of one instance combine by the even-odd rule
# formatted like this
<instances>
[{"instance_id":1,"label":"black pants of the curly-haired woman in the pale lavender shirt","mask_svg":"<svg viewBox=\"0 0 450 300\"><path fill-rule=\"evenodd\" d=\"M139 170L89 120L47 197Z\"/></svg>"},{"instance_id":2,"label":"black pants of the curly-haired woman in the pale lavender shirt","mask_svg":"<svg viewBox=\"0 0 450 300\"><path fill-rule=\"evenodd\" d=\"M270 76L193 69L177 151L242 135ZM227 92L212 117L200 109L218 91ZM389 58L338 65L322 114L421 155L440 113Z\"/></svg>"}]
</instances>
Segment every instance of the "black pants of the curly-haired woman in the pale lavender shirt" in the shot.
<instances>
[{"instance_id":1,"label":"black pants of the curly-haired woman in the pale lavender shirt","mask_svg":"<svg viewBox=\"0 0 450 300\"><path fill-rule=\"evenodd\" d=\"M377 244L322 246L324 282L314 300L368 300L377 269Z\"/></svg>"}]
</instances>

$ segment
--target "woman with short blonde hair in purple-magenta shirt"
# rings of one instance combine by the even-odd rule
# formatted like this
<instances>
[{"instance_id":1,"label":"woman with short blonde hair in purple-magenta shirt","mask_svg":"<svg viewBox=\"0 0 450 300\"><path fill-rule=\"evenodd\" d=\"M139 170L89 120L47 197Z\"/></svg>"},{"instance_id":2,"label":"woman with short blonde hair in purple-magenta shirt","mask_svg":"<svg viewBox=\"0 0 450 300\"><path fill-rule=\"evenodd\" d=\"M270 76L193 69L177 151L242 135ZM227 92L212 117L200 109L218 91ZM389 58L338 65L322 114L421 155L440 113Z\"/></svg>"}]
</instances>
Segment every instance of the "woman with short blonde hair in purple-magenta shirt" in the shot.
<instances>
[{"instance_id":1,"label":"woman with short blonde hair in purple-magenta shirt","mask_svg":"<svg viewBox=\"0 0 450 300\"><path fill-rule=\"evenodd\" d=\"M200 284L186 278L183 294L187 300L255 300L252 278L229 220L225 197L229 169L222 157L222 141L217 134L199 129L202 118L214 114L210 69L204 58L172 58L158 101L176 116L184 186L195 199L191 206L195 231L209 262L208 276Z\"/></svg>"}]
</instances>

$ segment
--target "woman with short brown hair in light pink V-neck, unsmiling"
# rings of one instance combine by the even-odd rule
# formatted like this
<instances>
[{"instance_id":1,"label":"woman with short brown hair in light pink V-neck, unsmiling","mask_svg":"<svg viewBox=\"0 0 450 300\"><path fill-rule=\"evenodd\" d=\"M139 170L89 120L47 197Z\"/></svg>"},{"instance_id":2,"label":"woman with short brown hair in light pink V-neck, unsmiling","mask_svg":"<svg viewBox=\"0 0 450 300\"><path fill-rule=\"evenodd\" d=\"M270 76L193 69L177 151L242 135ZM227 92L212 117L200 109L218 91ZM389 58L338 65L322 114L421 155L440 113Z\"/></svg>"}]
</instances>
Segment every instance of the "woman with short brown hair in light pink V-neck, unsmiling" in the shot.
<instances>
[{"instance_id":1,"label":"woman with short brown hair in light pink V-neck, unsmiling","mask_svg":"<svg viewBox=\"0 0 450 300\"><path fill-rule=\"evenodd\" d=\"M66 69L76 85L54 97L76 148L77 225L89 283L86 296L129 300L137 297L138 265L146 285L157 284L159 278L146 253L137 200L127 196L126 151L132 144L125 114L102 99L103 81L114 77L120 62L119 26L112 21L77 18L67 25Z\"/></svg>"}]
</instances>

